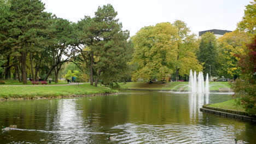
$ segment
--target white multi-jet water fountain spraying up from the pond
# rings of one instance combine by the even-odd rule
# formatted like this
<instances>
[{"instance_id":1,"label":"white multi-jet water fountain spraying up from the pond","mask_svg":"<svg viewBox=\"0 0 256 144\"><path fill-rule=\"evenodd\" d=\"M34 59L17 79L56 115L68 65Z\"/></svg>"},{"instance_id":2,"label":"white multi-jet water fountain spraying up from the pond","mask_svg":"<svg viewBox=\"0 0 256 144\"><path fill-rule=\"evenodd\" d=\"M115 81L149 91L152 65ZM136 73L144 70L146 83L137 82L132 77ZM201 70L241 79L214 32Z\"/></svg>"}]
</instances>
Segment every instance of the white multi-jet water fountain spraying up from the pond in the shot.
<instances>
[{"instance_id":1,"label":"white multi-jet water fountain spraying up from the pond","mask_svg":"<svg viewBox=\"0 0 256 144\"><path fill-rule=\"evenodd\" d=\"M210 93L209 90L209 76L206 75L206 82L203 81L203 74L200 71L196 77L196 71L194 71L194 76L192 70L190 70L189 75L189 92L190 93Z\"/></svg>"}]
</instances>

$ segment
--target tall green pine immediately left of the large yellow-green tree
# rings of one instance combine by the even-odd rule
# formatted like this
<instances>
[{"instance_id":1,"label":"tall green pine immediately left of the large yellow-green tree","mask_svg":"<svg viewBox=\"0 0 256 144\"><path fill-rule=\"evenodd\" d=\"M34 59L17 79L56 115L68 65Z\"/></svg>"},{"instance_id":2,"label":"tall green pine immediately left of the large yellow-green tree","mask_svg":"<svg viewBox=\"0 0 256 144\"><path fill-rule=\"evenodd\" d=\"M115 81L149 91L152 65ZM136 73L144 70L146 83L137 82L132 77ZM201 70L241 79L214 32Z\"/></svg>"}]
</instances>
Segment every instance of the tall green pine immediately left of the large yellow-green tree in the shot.
<instances>
[{"instance_id":1,"label":"tall green pine immediately left of the large yellow-green tree","mask_svg":"<svg viewBox=\"0 0 256 144\"><path fill-rule=\"evenodd\" d=\"M127 67L130 59L127 49L128 31L122 31L117 11L113 6L98 7L95 17L85 16L78 22L78 39L76 46L86 65L90 69L91 85L97 86L98 80L116 81ZM92 77L93 76L93 77ZM94 78L94 79L93 79Z\"/></svg>"}]
</instances>

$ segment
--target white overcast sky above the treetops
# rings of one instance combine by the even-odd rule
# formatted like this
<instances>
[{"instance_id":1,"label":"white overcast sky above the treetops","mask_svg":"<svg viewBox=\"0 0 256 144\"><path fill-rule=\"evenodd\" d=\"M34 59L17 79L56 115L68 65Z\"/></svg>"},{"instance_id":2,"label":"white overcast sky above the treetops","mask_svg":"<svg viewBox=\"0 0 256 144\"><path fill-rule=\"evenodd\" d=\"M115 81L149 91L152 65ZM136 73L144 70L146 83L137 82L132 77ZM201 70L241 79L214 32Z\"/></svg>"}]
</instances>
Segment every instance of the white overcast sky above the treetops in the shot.
<instances>
[{"instance_id":1,"label":"white overcast sky above the treetops","mask_svg":"<svg viewBox=\"0 0 256 144\"><path fill-rule=\"evenodd\" d=\"M77 22L94 17L98 6L112 4L123 29L135 35L144 26L182 20L193 33L210 29L234 31L245 6L253 0L41 0L45 11Z\"/></svg>"}]
</instances>

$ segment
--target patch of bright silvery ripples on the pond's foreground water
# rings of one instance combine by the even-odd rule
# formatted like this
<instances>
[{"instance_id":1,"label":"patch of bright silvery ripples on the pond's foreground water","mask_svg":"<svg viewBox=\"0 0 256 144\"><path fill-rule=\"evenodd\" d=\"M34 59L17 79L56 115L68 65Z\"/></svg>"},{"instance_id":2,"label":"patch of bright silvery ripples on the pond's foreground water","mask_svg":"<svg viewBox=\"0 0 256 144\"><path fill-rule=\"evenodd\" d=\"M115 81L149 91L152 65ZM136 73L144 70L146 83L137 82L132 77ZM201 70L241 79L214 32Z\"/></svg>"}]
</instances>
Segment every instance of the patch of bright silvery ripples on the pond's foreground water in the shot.
<instances>
[{"instance_id":1,"label":"patch of bright silvery ripples on the pond's foreground water","mask_svg":"<svg viewBox=\"0 0 256 144\"><path fill-rule=\"evenodd\" d=\"M120 143L234 143L234 129L223 126L127 123L112 129L125 131L118 134Z\"/></svg>"}]
</instances>

